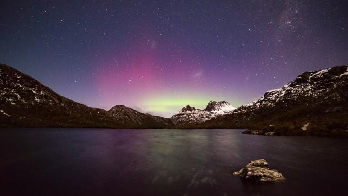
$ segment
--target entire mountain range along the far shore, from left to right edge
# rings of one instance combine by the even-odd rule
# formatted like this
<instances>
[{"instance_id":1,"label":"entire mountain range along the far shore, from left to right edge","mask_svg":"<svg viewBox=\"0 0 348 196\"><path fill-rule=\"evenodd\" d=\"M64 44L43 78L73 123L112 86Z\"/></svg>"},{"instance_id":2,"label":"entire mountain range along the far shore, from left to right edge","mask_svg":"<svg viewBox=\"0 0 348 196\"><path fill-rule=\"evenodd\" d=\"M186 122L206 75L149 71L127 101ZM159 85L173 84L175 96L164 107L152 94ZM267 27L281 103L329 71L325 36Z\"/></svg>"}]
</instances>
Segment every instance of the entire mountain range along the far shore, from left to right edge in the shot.
<instances>
[{"instance_id":1,"label":"entire mountain range along the far shore, from left to right edge","mask_svg":"<svg viewBox=\"0 0 348 196\"><path fill-rule=\"evenodd\" d=\"M258 134L335 135L348 133L347 93L348 68L337 66L301 73L237 109L209 101L204 110L187 105L168 119L124 105L91 108L0 64L0 127L252 128Z\"/></svg>"}]
</instances>

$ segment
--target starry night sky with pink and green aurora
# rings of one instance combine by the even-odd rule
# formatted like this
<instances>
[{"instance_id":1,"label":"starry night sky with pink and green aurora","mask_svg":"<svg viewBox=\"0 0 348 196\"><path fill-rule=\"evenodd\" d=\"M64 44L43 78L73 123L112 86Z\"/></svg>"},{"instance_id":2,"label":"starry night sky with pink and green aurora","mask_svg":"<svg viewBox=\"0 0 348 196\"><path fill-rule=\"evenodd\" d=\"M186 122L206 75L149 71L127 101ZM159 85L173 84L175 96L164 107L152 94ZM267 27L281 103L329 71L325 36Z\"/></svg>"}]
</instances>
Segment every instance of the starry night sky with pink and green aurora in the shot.
<instances>
[{"instance_id":1,"label":"starry night sky with pink and green aurora","mask_svg":"<svg viewBox=\"0 0 348 196\"><path fill-rule=\"evenodd\" d=\"M347 0L5 0L0 62L91 107L168 117L347 65L347 10Z\"/></svg>"}]
</instances>

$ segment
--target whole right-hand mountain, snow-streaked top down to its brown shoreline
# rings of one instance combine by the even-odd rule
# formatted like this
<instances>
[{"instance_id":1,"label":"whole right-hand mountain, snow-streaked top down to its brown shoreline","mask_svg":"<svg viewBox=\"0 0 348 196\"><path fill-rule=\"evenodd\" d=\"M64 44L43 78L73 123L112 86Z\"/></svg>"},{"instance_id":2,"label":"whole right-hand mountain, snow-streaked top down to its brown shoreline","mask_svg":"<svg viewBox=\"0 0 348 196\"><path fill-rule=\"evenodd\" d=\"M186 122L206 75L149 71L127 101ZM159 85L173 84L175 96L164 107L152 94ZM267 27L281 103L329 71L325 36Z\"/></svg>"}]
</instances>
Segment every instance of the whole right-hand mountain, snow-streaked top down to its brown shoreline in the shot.
<instances>
[{"instance_id":1,"label":"whole right-hand mountain, snow-streaked top down to its brown shoreline","mask_svg":"<svg viewBox=\"0 0 348 196\"><path fill-rule=\"evenodd\" d=\"M249 128L266 135L342 135L348 133L348 68L301 73L283 88L200 125Z\"/></svg>"}]
</instances>

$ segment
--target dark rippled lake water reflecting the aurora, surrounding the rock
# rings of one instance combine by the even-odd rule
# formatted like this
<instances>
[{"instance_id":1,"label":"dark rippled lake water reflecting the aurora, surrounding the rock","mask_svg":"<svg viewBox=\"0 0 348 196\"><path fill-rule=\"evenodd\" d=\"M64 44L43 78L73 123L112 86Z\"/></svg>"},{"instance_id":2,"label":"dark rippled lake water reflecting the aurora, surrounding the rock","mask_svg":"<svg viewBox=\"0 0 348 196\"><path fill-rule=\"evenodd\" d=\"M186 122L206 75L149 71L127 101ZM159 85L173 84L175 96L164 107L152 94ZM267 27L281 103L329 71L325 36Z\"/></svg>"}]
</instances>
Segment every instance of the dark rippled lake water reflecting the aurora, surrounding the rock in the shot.
<instances>
[{"instance_id":1,"label":"dark rippled lake water reflecting the aurora, surrounding the rock","mask_svg":"<svg viewBox=\"0 0 348 196\"><path fill-rule=\"evenodd\" d=\"M348 195L348 140L241 129L1 129L0 195ZM287 178L231 175L265 158Z\"/></svg>"}]
</instances>

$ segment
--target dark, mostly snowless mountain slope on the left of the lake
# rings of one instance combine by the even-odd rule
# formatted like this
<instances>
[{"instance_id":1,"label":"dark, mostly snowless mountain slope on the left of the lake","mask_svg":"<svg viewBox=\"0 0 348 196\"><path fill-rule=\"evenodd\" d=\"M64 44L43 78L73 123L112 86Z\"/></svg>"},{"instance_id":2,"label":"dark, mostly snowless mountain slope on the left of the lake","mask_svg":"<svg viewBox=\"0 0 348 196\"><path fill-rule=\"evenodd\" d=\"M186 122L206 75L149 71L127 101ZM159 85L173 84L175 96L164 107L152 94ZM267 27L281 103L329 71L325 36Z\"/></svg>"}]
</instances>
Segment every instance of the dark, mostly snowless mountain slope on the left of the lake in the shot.
<instances>
[{"instance_id":1,"label":"dark, mostly snowless mountain slope on the left of the lake","mask_svg":"<svg viewBox=\"0 0 348 196\"><path fill-rule=\"evenodd\" d=\"M0 127L163 128L169 124L168 119L123 105L110 111L88 107L0 63Z\"/></svg>"}]
</instances>

